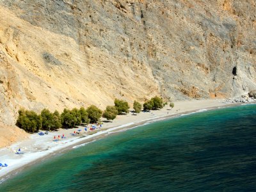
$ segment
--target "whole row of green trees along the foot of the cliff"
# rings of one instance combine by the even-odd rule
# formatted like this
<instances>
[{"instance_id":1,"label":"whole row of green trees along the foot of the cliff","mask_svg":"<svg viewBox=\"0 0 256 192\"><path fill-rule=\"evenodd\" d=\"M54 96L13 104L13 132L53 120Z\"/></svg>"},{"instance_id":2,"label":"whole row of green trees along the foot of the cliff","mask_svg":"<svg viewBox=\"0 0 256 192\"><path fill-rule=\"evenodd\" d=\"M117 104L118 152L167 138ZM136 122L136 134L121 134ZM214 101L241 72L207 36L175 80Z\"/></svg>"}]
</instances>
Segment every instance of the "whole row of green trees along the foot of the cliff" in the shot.
<instances>
[{"instance_id":1,"label":"whole row of green trees along the foot of the cliff","mask_svg":"<svg viewBox=\"0 0 256 192\"><path fill-rule=\"evenodd\" d=\"M115 99L115 106L107 106L105 111L101 111L96 106L89 106L87 109L83 107L80 109L64 109L60 113L54 111L51 113L48 109L43 109L40 115L34 111L24 109L19 110L19 117L16 125L27 132L38 132L39 129L50 131L56 130L60 127L72 128L76 125L89 124L99 122L100 117L113 120L116 115L129 113L129 104L125 100ZM163 108L166 103L163 103L161 97L153 97L143 104L143 109L149 111L151 109ZM142 105L140 102L134 100L133 108L135 113L140 113Z\"/></svg>"}]
</instances>

